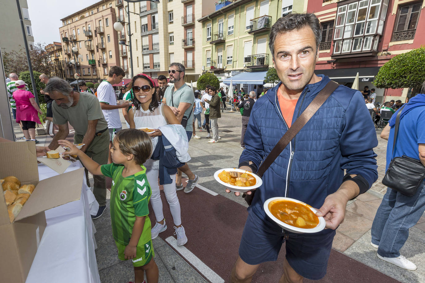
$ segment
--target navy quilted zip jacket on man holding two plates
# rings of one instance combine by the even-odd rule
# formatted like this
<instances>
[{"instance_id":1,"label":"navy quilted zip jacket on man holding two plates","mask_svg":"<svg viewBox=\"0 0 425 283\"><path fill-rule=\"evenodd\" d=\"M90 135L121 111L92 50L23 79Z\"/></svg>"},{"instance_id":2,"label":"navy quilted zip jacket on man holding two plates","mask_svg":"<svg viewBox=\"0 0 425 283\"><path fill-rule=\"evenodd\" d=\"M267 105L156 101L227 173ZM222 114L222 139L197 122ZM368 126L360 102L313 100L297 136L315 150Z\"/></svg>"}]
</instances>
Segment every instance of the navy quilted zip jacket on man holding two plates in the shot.
<instances>
[{"instance_id":1,"label":"navy quilted zip jacket on man holding two plates","mask_svg":"<svg viewBox=\"0 0 425 283\"><path fill-rule=\"evenodd\" d=\"M319 76L322 80L308 84L300 95L292 124L330 80ZM259 168L288 130L277 101L279 86L255 102L239 162L251 160ZM318 209L340 187L344 169L363 176L370 188L378 177L373 151L377 145L363 95L340 85L264 173L249 210L266 219L263 203L276 196L298 199Z\"/></svg>"}]
</instances>

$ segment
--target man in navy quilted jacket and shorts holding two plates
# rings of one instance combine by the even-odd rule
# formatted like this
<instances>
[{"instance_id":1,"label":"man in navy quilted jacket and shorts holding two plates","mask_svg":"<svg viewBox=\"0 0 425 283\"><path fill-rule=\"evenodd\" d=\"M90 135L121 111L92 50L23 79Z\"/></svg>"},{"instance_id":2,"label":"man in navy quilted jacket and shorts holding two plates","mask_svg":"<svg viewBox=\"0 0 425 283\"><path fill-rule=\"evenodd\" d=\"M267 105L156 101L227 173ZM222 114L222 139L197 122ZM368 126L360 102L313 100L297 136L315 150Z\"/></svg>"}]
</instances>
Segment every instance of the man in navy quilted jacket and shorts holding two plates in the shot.
<instances>
[{"instance_id":1,"label":"man in navy quilted jacket and shorts holding two plates","mask_svg":"<svg viewBox=\"0 0 425 283\"><path fill-rule=\"evenodd\" d=\"M320 40L320 22L314 14L290 14L272 26L269 48L281 82L252 108L239 168L257 172L283 134L330 81L314 74ZM248 208L230 282L251 282L260 263L277 260L283 242L286 258L279 282L323 278L347 202L377 180L373 151L377 145L363 95L338 86L263 174L263 184ZM278 196L316 207L316 215L325 218L328 229L312 234L282 230L263 209L267 199Z\"/></svg>"}]
</instances>

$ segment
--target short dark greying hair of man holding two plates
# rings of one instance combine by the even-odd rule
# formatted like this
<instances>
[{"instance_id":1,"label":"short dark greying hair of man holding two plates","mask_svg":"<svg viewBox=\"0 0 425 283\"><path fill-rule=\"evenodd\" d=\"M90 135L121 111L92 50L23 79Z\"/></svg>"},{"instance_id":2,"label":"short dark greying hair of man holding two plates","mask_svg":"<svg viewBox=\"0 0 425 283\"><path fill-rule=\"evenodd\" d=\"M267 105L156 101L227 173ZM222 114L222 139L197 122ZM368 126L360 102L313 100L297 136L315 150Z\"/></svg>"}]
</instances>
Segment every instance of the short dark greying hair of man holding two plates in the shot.
<instances>
[{"instance_id":1,"label":"short dark greying hair of man holding two plates","mask_svg":"<svg viewBox=\"0 0 425 283\"><path fill-rule=\"evenodd\" d=\"M322 40L322 29L320 22L314 14L289 14L279 18L272 26L269 35L269 48L272 52L273 59L275 58L275 39L279 34L284 34L288 31L300 30L309 26L316 38L316 52Z\"/></svg>"}]
</instances>

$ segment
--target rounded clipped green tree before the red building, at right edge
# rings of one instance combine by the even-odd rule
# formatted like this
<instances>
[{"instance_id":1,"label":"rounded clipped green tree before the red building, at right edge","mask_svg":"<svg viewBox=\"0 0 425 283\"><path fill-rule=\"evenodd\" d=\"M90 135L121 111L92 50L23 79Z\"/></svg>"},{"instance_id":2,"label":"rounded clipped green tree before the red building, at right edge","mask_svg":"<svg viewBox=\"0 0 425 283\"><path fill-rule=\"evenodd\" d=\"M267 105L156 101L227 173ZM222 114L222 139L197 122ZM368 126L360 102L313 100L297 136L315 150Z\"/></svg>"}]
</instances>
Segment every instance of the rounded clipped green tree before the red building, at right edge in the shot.
<instances>
[{"instance_id":1,"label":"rounded clipped green tree before the red building, at right edge","mask_svg":"<svg viewBox=\"0 0 425 283\"><path fill-rule=\"evenodd\" d=\"M425 46L393 57L380 67L373 84L379 88L412 87L419 90L425 81Z\"/></svg>"}]
</instances>

